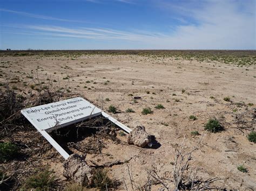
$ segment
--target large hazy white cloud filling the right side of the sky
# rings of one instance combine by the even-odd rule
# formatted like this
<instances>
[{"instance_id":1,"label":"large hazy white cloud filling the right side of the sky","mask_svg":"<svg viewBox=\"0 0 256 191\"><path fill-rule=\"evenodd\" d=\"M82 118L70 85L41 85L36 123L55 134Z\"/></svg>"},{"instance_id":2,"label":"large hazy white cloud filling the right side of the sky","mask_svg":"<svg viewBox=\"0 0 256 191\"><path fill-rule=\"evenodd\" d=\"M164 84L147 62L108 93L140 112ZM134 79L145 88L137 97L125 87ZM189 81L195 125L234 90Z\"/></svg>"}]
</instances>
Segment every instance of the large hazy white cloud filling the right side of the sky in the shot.
<instances>
[{"instance_id":1,"label":"large hazy white cloud filling the right side of the sky","mask_svg":"<svg viewBox=\"0 0 256 191\"><path fill-rule=\"evenodd\" d=\"M203 2L200 5L185 3L182 6L161 2L166 11L178 12L181 18L193 20L197 24L177 26L172 36L155 46L182 49L256 48L252 1L248 4L242 1L242 5L238 1L228 0Z\"/></svg>"}]
</instances>

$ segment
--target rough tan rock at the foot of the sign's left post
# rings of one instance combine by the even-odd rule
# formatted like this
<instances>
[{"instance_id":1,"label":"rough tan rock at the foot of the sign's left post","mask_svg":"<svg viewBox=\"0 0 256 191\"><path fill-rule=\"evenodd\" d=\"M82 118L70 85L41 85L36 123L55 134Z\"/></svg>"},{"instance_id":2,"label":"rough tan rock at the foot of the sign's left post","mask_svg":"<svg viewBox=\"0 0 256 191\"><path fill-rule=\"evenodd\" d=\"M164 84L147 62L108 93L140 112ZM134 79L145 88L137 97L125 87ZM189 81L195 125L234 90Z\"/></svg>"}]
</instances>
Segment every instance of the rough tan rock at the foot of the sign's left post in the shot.
<instances>
[{"instance_id":1,"label":"rough tan rock at the foot of the sign's left post","mask_svg":"<svg viewBox=\"0 0 256 191\"><path fill-rule=\"evenodd\" d=\"M68 159L63 162L63 175L82 186L92 184L92 169L85 161L86 155L71 154Z\"/></svg>"}]
</instances>

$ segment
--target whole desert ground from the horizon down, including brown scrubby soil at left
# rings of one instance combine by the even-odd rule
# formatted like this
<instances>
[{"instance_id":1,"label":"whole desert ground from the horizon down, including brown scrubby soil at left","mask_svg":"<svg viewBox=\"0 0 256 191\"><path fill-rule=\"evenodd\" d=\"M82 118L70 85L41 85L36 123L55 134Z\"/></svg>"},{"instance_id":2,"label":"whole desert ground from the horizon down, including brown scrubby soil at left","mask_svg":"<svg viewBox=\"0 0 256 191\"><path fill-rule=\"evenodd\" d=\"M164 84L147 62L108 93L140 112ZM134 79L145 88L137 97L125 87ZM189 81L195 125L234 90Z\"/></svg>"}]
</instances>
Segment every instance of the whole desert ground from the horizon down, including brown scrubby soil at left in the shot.
<instances>
[{"instance_id":1,"label":"whole desert ground from the horizon down, including brown scrubby soil at left","mask_svg":"<svg viewBox=\"0 0 256 191\"><path fill-rule=\"evenodd\" d=\"M184 182L191 172L201 185L216 178L205 188L254 190L256 145L247 136L255 128L256 52L220 54L1 52L0 82L2 89L8 84L24 97L37 94L40 84L46 84L65 90L60 100L79 95L131 129L145 126L157 145L129 145L127 135L118 130L118 142L102 139L105 146L100 153L87 153L86 161L91 166L129 160L105 167L107 175L118 182L112 189L143 190L144 186L146 190L149 180L151 190L175 189L176 148L179 150L184 142L183 152L193 151ZM221 59L212 59L212 55ZM226 61L224 57L230 55L237 60ZM136 96L139 98L134 99ZM163 107L157 109L158 104ZM109 112L110 105L116 107L116 114ZM144 108L153 112L143 115ZM223 131L205 130L212 118L220 122ZM20 157L0 164L6 175L14 177L10 186L4 188L21 188L35 169L47 166L56 176L55 188L64 189L70 181L63 176L62 155L23 120L22 127L1 131L1 142L15 143L20 153ZM246 128L241 128L241 123ZM198 133L191 133L195 131ZM74 145L90 144L92 139L87 135L70 143L65 140L65 144L70 153L84 154ZM239 165L247 172L239 171Z\"/></svg>"}]
</instances>

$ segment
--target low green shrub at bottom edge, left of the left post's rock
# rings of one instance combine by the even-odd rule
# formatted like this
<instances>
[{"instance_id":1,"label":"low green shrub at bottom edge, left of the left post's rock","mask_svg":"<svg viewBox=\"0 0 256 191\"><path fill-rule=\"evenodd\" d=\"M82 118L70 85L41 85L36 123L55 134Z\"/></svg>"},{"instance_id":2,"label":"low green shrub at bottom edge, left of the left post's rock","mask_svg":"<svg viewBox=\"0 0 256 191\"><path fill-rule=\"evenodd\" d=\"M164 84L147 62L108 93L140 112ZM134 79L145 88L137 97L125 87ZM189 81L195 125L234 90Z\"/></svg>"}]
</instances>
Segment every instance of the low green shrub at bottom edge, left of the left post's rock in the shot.
<instances>
[{"instance_id":1,"label":"low green shrub at bottom edge, left of the left post's rock","mask_svg":"<svg viewBox=\"0 0 256 191\"><path fill-rule=\"evenodd\" d=\"M43 171L36 171L35 175L29 176L26 179L23 188L24 189L36 189L36 190L50 190L54 188L55 185L55 175L52 174L53 171L49 169L44 169Z\"/></svg>"}]
</instances>

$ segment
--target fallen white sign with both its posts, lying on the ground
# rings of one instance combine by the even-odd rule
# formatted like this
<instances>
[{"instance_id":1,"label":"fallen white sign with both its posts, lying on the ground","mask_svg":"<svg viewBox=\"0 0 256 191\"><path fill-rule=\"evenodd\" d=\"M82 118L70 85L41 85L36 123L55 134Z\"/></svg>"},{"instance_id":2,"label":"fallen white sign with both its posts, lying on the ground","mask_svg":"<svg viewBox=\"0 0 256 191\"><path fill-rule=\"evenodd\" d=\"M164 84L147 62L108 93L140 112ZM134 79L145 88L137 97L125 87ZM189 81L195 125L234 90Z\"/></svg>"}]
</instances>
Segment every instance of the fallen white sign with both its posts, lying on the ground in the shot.
<instances>
[{"instance_id":1,"label":"fallen white sign with both its posts, lying on the ground","mask_svg":"<svg viewBox=\"0 0 256 191\"><path fill-rule=\"evenodd\" d=\"M69 154L48 134L48 132L100 115L109 119L125 132L131 132L130 128L127 128L127 126L118 122L82 97L38 105L36 107L23 109L21 112L65 159L69 158Z\"/></svg>"}]
</instances>

